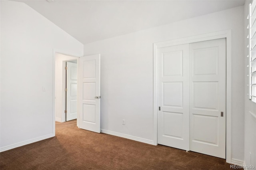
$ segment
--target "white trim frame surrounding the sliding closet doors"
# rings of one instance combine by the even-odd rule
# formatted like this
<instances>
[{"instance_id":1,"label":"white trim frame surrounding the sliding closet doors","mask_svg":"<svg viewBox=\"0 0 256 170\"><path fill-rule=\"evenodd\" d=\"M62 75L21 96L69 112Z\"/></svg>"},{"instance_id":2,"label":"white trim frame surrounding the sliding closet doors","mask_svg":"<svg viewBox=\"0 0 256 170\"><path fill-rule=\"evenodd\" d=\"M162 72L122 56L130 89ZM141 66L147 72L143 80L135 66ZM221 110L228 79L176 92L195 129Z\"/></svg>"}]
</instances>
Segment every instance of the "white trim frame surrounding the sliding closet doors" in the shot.
<instances>
[{"instance_id":1,"label":"white trim frame surrounding the sliding closet doors","mask_svg":"<svg viewBox=\"0 0 256 170\"><path fill-rule=\"evenodd\" d=\"M226 162L231 163L231 30L154 43L153 141L157 145L157 48L226 38Z\"/></svg>"}]
</instances>

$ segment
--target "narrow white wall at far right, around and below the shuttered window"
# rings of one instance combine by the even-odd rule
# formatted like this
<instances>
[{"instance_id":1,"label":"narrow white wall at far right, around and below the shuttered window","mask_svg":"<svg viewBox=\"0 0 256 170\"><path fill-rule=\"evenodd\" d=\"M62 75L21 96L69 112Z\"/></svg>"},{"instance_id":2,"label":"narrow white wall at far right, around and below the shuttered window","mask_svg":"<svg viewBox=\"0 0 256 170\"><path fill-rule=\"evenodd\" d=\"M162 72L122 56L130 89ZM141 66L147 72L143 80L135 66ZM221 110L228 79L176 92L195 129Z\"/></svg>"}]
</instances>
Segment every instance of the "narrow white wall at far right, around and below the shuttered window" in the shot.
<instances>
[{"instance_id":1,"label":"narrow white wall at far right, around and below the shuttered window","mask_svg":"<svg viewBox=\"0 0 256 170\"><path fill-rule=\"evenodd\" d=\"M253 165L256 168L256 103L251 102L248 98L248 74L249 69L246 67L249 63L248 58L246 57L248 55L248 39L246 38L248 35L248 6L249 2L251 1L245 1L244 4L244 68L245 68L245 91L244 91L244 101L245 101L245 107L244 107L244 164L247 166ZM251 153L251 155L250 155Z\"/></svg>"}]
</instances>

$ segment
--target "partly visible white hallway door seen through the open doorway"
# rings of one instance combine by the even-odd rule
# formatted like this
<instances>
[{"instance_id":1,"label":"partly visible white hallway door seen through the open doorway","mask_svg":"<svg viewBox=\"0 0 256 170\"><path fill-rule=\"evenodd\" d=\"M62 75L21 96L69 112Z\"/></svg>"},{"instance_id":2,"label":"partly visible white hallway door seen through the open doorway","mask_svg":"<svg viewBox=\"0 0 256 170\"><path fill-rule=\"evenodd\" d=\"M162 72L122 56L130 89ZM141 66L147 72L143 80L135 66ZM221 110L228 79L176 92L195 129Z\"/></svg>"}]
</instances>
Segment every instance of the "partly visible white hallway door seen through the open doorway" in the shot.
<instances>
[{"instance_id":1,"label":"partly visible white hallway door seen through the open doorway","mask_svg":"<svg viewBox=\"0 0 256 170\"><path fill-rule=\"evenodd\" d=\"M77 64L67 62L66 121L77 119Z\"/></svg>"}]
</instances>

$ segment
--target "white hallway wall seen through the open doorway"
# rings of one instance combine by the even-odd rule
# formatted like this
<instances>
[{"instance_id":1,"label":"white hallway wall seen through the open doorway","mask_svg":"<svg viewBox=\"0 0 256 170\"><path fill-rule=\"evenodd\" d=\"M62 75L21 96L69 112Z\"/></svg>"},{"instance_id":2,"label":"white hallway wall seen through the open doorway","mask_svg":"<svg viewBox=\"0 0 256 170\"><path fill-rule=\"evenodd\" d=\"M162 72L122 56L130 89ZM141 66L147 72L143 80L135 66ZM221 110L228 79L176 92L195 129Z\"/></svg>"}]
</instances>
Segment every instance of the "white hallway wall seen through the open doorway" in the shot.
<instances>
[{"instance_id":1,"label":"white hallway wall seen through the open doorway","mask_svg":"<svg viewBox=\"0 0 256 170\"><path fill-rule=\"evenodd\" d=\"M64 117L65 108L65 92L63 86L64 79L64 61L77 59L76 57L64 55L61 53L55 54L55 121L64 122L66 118Z\"/></svg>"}]
</instances>

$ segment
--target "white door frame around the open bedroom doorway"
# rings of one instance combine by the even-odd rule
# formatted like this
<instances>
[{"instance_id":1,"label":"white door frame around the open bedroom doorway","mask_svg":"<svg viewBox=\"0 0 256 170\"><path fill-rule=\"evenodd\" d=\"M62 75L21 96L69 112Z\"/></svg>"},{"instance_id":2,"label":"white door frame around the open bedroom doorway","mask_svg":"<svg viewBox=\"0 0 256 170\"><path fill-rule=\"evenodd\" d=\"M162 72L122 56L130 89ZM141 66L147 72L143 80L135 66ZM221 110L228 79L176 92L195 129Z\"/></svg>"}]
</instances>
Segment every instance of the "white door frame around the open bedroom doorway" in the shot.
<instances>
[{"instance_id":1,"label":"white door frame around the open bedroom doorway","mask_svg":"<svg viewBox=\"0 0 256 170\"><path fill-rule=\"evenodd\" d=\"M52 75L52 87L53 87L53 94L52 94L52 117L53 117L53 123L52 123L52 133L53 133L53 135L55 136L55 100L56 100L56 97L55 97L55 64L56 64L56 57L55 57L55 55L56 55L56 53L60 53L60 54L63 54L63 55L68 55L68 56L71 56L71 57L75 57L75 58L77 58L77 64L78 64L78 62L79 62L79 55L77 55L77 54L70 54L68 51L63 51L63 50L59 50L59 49L52 49L52 60L53 60L53 65L52 65L52 67L53 67L53 70L52 70L52 72L53 72L53 75ZM62 62L62 66L64 67L64 62L66 62L66 61L63 61ZM62 81L64 81L64 79L62 79ZM78 92L77 92L78 93ZM63 108L64 106L62 106L62 108ZM78 111L78 113L77 113L78 115L79 115L79 111ZM79 119L79 118L78 118ZM77 120L77 126L79 127L79 120Z\"/></svg>"}]
</instances>

